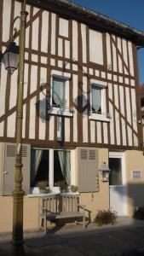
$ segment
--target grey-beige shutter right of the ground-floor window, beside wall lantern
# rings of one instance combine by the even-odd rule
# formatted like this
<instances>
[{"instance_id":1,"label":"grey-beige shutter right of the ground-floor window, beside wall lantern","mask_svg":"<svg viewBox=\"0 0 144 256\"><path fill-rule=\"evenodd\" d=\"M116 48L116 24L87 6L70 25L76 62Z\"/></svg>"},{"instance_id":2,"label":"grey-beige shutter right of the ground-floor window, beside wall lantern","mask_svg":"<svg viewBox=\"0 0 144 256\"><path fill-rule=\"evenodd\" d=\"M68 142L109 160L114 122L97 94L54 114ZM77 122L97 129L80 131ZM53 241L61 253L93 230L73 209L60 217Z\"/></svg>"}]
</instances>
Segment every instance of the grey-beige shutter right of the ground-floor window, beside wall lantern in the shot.
<instances>
[{"instance_id":1,"label":"grey-beige shutter right of the ground-floor window, beside wall lantern","mask_svg":"<svg viewBox=\"0 0 144 256\"><path fill-rule=\"evenodd\" d=\"M97 191L98 150L78 148L78 189L79 192Z\"/></svg>"}]
</instances>

